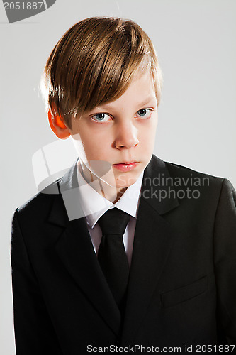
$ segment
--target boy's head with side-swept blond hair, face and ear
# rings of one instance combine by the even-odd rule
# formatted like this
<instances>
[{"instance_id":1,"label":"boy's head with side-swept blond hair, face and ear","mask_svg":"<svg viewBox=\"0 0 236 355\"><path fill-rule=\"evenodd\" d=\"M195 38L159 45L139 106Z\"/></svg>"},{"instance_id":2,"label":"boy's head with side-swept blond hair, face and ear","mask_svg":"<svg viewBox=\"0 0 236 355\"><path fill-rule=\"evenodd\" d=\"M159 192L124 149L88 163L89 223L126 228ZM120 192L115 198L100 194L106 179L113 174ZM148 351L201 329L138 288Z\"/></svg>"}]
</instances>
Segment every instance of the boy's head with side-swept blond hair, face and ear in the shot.
<instances>
[{"instance_id":1,"label":"boy's head with side-swept blond hair, face and ear","mask_svg":"<svg viewBox=\"0 0 236 355\"><path fill-rule=\"evenodd\" d=\"M142 28L86 18L55 45L44 74L50 126L77 142L87 182L92 173L120 193L133 185L152 156L162 84Z\"/></svg>"}]
</instances>

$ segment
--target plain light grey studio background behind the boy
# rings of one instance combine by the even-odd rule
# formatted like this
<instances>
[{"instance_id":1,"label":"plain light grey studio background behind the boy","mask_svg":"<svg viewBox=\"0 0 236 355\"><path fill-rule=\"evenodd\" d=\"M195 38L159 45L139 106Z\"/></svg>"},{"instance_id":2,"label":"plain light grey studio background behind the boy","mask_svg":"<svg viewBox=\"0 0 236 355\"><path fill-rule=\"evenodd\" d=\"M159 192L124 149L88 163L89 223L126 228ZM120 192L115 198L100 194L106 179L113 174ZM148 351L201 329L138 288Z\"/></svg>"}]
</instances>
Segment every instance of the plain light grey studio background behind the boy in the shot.
<instances>
[{"instance_id":1,"label":"plain light grey studio background behind the boy","mask_svg":"<svg viewBox=\"0 0 236 355\"><path fill-rule=\"evenodd\" d=\"M120 16L140 24L164 74L154 154L236 186L235 15L234 0L57 0L37 16L9 24L0 4L1 354L15 354L11 216L38 192L35 152L57 140L39 93L40 75L57 40L90 16ZM73 154L61 158L68 166L74 161Z\"/></svg>"}]
</instances>

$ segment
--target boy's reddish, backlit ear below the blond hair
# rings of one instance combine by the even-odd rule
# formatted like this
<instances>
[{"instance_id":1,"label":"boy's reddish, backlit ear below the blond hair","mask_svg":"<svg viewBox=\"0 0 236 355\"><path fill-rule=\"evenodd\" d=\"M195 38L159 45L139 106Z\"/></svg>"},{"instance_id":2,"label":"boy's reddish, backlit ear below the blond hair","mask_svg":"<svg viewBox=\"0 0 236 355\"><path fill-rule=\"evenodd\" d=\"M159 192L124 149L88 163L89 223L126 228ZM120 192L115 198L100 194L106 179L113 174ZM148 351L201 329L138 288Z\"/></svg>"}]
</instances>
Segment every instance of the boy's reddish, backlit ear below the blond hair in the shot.
<instances>
[{"instance_id":1,"label":"boy's reddish, backlit ear below the blond hair","mask_svg":"<svg viewBox=\"0 0 236 355\"><path fill-rule=\"evenodd\" d=\"M52 131L60 139L66 139L70 136L70 132L66 124L64 123L63 116L60 115L52 103L52 111L48 109L47 117Z\"/></svg>"}]
</instances>

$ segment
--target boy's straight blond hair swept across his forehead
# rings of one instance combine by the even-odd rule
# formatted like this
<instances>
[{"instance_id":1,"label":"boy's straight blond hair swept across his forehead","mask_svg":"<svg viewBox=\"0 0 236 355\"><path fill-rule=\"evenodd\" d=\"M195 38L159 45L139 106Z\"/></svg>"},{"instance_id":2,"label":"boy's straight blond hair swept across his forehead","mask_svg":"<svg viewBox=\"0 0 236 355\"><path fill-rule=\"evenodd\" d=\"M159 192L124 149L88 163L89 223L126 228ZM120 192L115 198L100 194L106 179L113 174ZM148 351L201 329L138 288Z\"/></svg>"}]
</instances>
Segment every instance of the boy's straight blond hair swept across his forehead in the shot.
<instances>
[{"instance_id":1,"label":"boy's straight blond hair swept across his forehead","mask_svg":"<svg viewBox=\"0 0 236 355\"><path fill-rule=\"evenodd\" d=\"M47 107L52 102L71 128L71 118L118 99L136 75L150 70L160 101L162 73L152 41L134 21L91 17L64 33L43 73Z\"/></svg>"}]
</instances>

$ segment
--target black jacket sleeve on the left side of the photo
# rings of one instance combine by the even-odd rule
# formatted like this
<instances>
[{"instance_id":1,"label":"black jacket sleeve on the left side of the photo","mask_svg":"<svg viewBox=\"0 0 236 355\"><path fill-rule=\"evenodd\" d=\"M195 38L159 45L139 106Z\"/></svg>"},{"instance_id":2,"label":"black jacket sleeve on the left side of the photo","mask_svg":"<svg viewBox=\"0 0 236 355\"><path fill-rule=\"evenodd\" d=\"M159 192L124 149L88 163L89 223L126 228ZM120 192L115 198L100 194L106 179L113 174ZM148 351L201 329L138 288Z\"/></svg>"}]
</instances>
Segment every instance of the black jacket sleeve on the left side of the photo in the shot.
<instances>
[{"instance_id":1,"label":"black jacket sleeve on the left side of the photo","mask_svg":"<svg viewBox=\"0 0 236 355\"><path fill-rule=\"evenodd\" d=\"M12 222L11 269L16 354L62 355L28 258L17 211Z\"/></svg>"}]
</instances>

